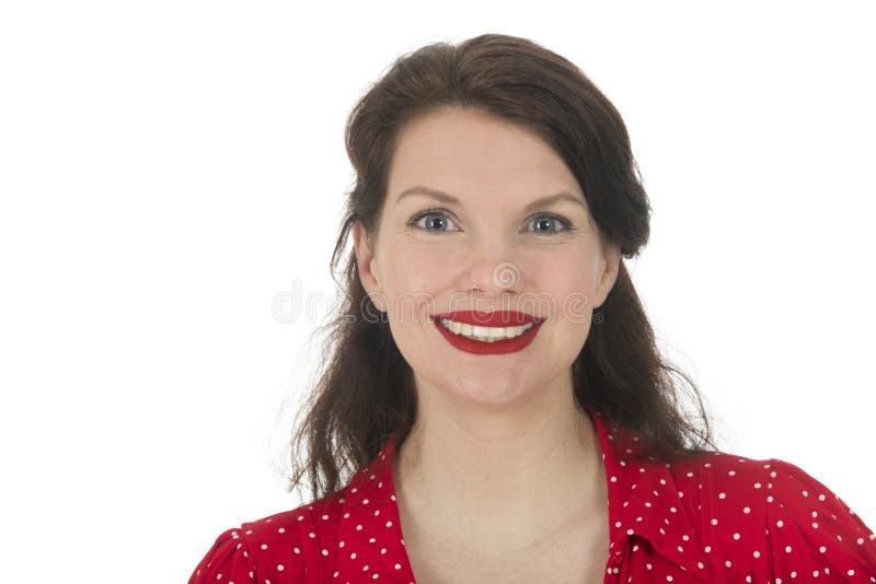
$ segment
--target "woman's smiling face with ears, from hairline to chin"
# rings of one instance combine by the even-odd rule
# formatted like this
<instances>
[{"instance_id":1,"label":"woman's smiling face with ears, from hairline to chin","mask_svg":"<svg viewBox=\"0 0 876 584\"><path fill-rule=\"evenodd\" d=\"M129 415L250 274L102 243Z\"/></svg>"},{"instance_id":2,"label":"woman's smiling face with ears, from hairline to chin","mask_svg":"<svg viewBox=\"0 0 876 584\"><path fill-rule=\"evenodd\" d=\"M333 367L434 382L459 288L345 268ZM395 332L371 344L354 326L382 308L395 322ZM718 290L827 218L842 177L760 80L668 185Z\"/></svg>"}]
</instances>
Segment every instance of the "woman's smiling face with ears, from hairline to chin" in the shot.
<instances>
[{"instance_id":1,"label":"woman's smiling face with ears, from hairline to chin","mask_svg":"<svg viewBox=\"0 0 876 584\"><path fill-rule=\"evenodd\" d=\"M413 187L458 202L420 190L401 196ZM535 202L558 192L570 197ZM460 107L403 128L377 241L356 223L354 244L362 284L388 313L418 392L493 406L570 383L620 261L616 246L600 246L580 186L556 152L522 127ZM481 354L434 324L433 315L453 311L517 311L544 322L525 348Z\"/></svg>"}]
</instances>

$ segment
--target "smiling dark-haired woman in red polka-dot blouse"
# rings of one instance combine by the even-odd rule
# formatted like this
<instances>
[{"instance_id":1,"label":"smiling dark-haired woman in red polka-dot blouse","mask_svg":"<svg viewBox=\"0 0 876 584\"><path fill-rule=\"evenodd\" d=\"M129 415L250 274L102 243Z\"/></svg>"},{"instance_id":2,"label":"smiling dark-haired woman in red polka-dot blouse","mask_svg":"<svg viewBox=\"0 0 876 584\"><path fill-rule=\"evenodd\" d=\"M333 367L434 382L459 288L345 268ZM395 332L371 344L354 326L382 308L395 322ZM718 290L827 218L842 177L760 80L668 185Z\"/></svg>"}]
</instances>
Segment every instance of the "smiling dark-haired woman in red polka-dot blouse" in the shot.
<instances>
[{"instance_id":1,"label":"smiling dark-haired woman in red polka-dot blouse","mask_svg":"<svg viewBox=\"0 0 876 584\"><path fill-rule=\"evenodd\" d=\"M346 303L296 436L318 499L221 534L189 582L876 582L834 493L718 452L695 388L701 423L680 411L620 260L647 196L573 63L430 45L346 138Z\"/></svg>"}]
</instances>

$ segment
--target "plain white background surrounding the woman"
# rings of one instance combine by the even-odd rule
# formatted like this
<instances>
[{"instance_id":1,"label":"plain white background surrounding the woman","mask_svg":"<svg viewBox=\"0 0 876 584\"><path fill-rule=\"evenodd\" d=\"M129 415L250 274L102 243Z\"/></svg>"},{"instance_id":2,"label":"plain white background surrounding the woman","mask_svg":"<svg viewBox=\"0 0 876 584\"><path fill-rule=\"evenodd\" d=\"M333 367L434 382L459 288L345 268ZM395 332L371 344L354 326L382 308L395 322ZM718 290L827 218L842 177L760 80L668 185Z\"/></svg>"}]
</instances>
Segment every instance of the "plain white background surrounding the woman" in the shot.
<instances>
[{"instance_id":1,"label":"plain white background surrounding the woman","mask_svg":"<svg viewBox=\"0 0 876 584\"><path fill-rule=\"evenodd\" d=\"M627 268L723 448L876 528L867 3L606 4L4 3L3 580L184 582L221 530L300 504L284 446L346 116L395 57L487 32L623 115L654 207ZM295 290L315 311L283 324Z\"/></svg>"}]
</instances>

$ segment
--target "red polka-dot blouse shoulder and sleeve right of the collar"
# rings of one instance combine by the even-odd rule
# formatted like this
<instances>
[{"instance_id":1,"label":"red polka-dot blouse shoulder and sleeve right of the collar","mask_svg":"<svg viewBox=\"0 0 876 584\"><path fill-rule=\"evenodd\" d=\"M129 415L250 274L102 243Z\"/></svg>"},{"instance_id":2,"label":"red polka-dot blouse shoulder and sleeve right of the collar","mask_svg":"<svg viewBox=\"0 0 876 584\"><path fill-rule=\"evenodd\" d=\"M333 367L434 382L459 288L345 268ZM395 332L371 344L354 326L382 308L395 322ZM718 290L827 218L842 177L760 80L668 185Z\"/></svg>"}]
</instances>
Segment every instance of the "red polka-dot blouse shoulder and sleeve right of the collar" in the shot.
<instances>
[{"instance_id":1,"label":"red polka-dot blouse shoulder and sleeve right of the collar","mask_svg":"<svg viewBox=\"0 0 876 584\"><path fill-rule=\"evenodd\" d=\"M840 497L779 459L714 453L671 467L688 490L704 551L733 577L841 574L876 582L876 536ZM873 579L873 580L871 580Z\"/></svg>"}]
</instances>

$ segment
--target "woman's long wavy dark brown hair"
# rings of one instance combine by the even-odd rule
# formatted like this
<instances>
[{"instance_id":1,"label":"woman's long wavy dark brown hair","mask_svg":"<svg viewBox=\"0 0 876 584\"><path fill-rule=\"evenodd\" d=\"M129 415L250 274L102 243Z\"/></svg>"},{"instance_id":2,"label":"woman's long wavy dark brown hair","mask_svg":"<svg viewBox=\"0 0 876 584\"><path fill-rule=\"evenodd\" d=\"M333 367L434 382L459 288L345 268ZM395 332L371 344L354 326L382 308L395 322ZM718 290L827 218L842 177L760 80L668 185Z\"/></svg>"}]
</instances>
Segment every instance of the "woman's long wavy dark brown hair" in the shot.
<instances>
[{"instance_id":1,"label":"woman's long wavy dark brown hair","mask_svg":"<svg viewBox=\"0 0 876 584\"><path fill-rule=\"evenodd\" d=\"M397 58L347 119L356 182L331 260L343 300L319 328L328 332L326 360L295 424L290 491L307 476L314 499L336 492L392 434L401 446L416 420L411 366L385 313L361 284L355 250L346 254L342 271L337 266L356 221L376 240L400 129L446 106L477 108L535 132L577 178L603 243L618 244L626 258L647 243L652 209L626 127L575 65L529 39L500 34L435 43ZM691 378L660 355L623 260L592 322L573 364L577 405L635 435L636 458L671 463L717 451L702 397ZM673 373L690 386L696 416L685 414L683 385Z\"/></svg>"}]
</instances>

